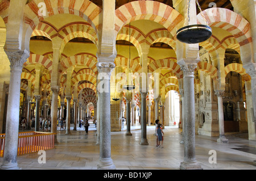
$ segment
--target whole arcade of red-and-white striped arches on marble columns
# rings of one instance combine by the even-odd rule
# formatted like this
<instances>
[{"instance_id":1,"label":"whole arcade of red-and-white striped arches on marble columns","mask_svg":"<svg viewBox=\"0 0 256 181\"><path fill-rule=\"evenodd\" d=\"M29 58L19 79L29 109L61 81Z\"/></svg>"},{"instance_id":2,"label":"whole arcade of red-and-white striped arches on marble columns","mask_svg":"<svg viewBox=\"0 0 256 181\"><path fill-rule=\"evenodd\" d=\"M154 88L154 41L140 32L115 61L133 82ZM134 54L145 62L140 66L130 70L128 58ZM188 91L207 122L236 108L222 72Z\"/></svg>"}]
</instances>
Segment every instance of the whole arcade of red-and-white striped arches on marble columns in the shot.
<instances>
[{"instance_id":1,"label":"whole arcade of red-and-white striped arches on marble columns","mask_svg":"<svg viewBox=\"0 0 256 181\"><path fill-rule=\"evenodd\" d=\"M182 128L182 169L200 169L195 134L225 143L225 132L240 132L256 140L256 1L210 2L199 1L213 35L183 44L176 30L185 0L1 0L2 168L18 168L20 116L35 116L35 131L39 116L51 117L52 133L65 117L67 134L70 123L75 130L79 118L92 116L100 127L99 169L115 169L110 131L121 131L124 116L131 135L137 113L142 145L156 119ZM195 0L189 3L191 22L204 24ZM135 89L122 89L127 82Z\"/></svg>"}]
</instances>

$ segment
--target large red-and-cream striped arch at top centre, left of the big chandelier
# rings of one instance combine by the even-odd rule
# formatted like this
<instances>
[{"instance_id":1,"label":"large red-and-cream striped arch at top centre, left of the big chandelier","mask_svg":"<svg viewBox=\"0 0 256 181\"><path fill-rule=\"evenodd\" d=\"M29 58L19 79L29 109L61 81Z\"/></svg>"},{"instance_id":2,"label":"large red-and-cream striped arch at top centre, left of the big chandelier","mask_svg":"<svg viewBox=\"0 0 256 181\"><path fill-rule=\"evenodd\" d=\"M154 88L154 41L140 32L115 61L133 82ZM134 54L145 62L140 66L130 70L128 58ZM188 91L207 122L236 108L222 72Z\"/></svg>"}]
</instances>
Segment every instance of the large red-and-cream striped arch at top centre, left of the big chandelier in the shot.
<instances>
[{"instance_id":1,"label":"large red-and-cream striped arch at top centre, left of the big chandelier","mask_svg":"<svg viewBox=\"0 0 256 181\"><path fill-rule=\"evenodd\" d=\"M129 22L147 19L161 24L175 36L175 27L181 27L183 23L183 15L172 7L157 1L133 1L126 3L115 10L115 16L116 34Z\"/></svg>"}]
</instances>

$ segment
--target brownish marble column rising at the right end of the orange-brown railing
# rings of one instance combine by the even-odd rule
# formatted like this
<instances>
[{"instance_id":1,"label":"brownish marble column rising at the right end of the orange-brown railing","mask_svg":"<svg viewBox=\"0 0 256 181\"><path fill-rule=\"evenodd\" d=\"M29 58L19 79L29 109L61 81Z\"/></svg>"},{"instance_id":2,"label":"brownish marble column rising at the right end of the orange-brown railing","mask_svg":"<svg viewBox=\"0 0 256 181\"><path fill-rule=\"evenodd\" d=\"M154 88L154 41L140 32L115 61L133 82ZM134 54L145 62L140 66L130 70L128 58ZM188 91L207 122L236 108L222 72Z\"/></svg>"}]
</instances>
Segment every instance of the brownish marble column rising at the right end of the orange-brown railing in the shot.
<instances>
[{"instance_id":1,"label":"brownish marble column rising at the right end of the orange-brown railing","mask_svg":"<svg viewBox=\"0 0 256 181\"><path fill-rule=\"evenodd\" d=\"M57 113L58 113L58 95L59 86L52 86L52 104L51 104L51 133L55 133L55 144L57 141Z\"/></svg>"}]
</instances>

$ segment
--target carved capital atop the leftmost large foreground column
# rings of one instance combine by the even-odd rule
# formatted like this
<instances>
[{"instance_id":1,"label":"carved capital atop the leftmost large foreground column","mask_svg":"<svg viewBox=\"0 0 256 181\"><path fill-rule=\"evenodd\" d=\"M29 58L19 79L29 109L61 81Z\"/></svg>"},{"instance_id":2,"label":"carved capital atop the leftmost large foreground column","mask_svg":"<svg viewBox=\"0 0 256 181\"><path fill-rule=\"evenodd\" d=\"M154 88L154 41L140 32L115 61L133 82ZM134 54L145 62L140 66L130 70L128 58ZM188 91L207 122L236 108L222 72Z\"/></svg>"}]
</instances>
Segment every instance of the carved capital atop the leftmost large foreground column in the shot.
<instances>
[{"instance_id":1,"label":"carved capital atop the leftmost large foreground column","mask_svg":"<svg viewBox=\"0 0 256 181\"><path fill-rule=\"evenodd\" d=\"M9 50L5 49L5 53L10 61L11 70L18 69L22 71L24 62L30 57L30 52L27 50Z\"/></svg>"}]
</instances>

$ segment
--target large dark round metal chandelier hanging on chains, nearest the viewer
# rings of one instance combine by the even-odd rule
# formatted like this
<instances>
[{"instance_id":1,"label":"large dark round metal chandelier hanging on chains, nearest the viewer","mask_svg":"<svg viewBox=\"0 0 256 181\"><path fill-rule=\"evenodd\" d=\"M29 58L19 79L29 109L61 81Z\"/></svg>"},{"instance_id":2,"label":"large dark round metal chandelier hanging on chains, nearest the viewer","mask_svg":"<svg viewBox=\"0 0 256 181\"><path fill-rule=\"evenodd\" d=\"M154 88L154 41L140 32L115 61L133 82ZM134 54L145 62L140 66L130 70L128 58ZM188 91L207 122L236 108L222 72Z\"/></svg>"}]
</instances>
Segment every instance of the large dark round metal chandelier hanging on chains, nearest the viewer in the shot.
<instances>
[{"instance_id":1,"label":"large dark round metal chandelier hanging on chains, nearest the viewer","mask_svg":"<svg viewBox=\"0 0 256 181\"><path fill-rule=\"evenodd\" d=\"M205 19L205 16L201 10L201 7L199 5L199 2L195 0L197 3L197 6L199 7L200 14L203 16L204 21L206 25L204 24L192 24L189 25L190 17L190 2L191 0L187 1L187 14L185 15L185 21L184 21L184 27L180 28L176 35L177 39L183 43L187 44L196 44L201 43L207 39L209 39L210 36L212 36L212 28L208 26L207 20ZM185 26L187 23L187 26Z\"/></svg>"}]
</instances>

